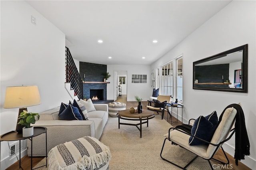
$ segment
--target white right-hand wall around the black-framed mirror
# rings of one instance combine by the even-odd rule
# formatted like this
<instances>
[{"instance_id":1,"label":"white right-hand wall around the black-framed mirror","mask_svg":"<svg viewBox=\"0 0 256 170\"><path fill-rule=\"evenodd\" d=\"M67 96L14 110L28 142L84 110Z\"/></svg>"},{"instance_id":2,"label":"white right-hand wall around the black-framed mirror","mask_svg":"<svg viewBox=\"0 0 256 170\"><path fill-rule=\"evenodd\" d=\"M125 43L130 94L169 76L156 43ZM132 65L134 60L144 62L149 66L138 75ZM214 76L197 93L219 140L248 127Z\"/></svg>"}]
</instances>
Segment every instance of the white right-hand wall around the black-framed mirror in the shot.
<instances>
[{"instance_id":1,"label":"white right-hand wall around the black-framed mirror","mask_svg":"<svg viewBox=\"0 0 256 170\"><path fill-rule=\"evenodd\" d=\"M232 1L180 44L151 65L151 70L183 53L184 122L216 110L218 116L232 103L242 103L250 140L250 156L242 160L256 167L256 12L255 1ZM248 43L248 93L192 89L192 63L199 59ZM234 156L234 138L224 144ZM235 165L233 165L235 166Z\"/></svg>"}]
</instances>

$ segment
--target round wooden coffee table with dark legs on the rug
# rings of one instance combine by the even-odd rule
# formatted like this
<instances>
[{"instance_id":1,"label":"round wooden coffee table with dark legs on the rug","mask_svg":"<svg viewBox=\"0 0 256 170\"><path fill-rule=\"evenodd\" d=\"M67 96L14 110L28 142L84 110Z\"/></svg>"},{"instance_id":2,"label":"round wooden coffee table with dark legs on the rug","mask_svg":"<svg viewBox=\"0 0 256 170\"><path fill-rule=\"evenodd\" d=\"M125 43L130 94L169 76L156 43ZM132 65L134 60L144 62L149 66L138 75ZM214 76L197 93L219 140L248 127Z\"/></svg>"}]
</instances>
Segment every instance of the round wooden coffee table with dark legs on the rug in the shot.
<instances>
[{"instance_id":1,"label":"round wooden coffee table with dark legs on the rug","mask_svg":"<svg viewBox=\"0 0 256 170\"><path fill-rule=\"evenodd\" d=\"M142 113L130 113L130 110L124 110L119 111L117 113L118 117L118 128L120 128L120 125L131 125L136 126L138 130L140 130L140 138L142 138L142 124L147 123L148 127L148 120L155 117L155 114L150 110L142 110ZM140 121L140 123L137 124L131 124L131 123L120 123L120 119L128 120L128 121ZM142 122L145 121L145 122ZM138 127L140 125L140 127Z\"/></svg>"}]
</instances>

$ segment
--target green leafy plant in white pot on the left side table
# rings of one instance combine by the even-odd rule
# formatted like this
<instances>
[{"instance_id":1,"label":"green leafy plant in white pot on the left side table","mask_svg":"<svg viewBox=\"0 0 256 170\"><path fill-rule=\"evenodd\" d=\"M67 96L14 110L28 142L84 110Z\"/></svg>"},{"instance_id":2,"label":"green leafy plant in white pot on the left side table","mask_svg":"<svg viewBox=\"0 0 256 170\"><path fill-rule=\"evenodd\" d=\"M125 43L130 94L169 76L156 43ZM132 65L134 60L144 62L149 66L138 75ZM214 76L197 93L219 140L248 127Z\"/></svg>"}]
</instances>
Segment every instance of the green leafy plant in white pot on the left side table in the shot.
<instances>
[{"instance_id":1,"label":"green leafy plant in white pot on the left side table","mask_svg":"<svg viewBox=\"0 0 256 170\"><path fill-rule=\"evenodd\" d=\"M36 123L36 119L38 120L40 115L38 113L31 113L28 111L23 111L20 113L20 116L18 119L20 119L19 123L20 125L23 125L25 127L22 128L22 136L28 137L32 136L34 134L34 127L31 127L31 123Z\"/></svg>"}]
</instances>

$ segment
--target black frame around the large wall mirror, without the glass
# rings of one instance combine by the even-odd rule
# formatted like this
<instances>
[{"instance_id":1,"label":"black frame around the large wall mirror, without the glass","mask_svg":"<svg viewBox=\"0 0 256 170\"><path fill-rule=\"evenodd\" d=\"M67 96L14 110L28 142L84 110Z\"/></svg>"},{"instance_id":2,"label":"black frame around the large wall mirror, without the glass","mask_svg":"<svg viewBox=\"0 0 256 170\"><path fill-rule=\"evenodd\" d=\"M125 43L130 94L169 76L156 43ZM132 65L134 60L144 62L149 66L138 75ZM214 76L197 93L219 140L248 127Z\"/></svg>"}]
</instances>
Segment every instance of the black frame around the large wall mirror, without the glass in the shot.
<instances>
[{"instance_id":1,"label":"black frame around the large wall mirror, without the glass","mask_svg":"<svg viewBox=\"0 0 256 170\"><path fill-rule=\"evenodd\" d=\"M214 59L218 59L226 56L229 53L233 53L236 51L243 50L243 59L242 59L242 89L229 89L229 88L215 88L215 87L195 87L195 65L204 63L206 61L211 61ZM242 45L240 47L236 47L230 49L228 51L224 51L222 53L218 53L216 55L212 55L210 57L206 57L204 59L200 59L198 61L193 62L193 89L199 90L213 90L213 91L231 91L231 92L240 92L240 93L248 93L248 44Z\"/></svg>"}]
</instances>

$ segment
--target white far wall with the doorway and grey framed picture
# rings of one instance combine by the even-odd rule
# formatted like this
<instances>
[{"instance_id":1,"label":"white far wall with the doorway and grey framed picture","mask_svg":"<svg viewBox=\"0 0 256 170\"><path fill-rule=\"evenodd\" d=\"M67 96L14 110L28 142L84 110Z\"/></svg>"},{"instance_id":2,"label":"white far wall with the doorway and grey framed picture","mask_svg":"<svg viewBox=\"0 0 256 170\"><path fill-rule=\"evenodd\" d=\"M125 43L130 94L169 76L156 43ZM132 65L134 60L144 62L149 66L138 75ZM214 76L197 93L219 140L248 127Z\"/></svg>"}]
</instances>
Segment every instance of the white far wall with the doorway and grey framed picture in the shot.
<instances>
[{"instance_id":1,"label":"white far wall with the doorway and grey framed picture","mask_svg":"<svg viewBox=\"0 0 256 170\"><path fill-rule=\"evenodd\" d=\"M107 65L107 72L114 75L114 71L127 71L127 101L135 101L134 96L142 97L142 101L147 101L152 95L151 69L150 65ZM146 74L147 83L132 83L133 74ZM114 76L111 76L107 84L107 99L114 100Z\"/></svg>"}]
</instances>

